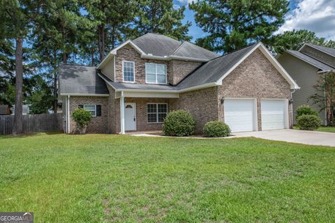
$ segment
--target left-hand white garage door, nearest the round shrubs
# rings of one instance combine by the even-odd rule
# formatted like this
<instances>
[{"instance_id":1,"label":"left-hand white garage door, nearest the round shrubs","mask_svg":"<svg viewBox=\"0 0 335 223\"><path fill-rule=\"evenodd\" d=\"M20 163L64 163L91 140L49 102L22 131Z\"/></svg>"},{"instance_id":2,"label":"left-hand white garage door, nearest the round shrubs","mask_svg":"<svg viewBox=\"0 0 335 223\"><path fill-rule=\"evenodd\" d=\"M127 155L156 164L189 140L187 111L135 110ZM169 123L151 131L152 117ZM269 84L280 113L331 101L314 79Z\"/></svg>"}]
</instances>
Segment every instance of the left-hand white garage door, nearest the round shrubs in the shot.
<instances>
[{"instance_id":1,"label":"left-hand white garage door, nearest the round shrubs","mask_svg":"<svg viewBox=\"0 0 335 223\"><path fill-rule=\"evenodd\" d=\"M225 99L225 123L232 132L255 130L255 100Z\"/></svg>"}]
</instances>

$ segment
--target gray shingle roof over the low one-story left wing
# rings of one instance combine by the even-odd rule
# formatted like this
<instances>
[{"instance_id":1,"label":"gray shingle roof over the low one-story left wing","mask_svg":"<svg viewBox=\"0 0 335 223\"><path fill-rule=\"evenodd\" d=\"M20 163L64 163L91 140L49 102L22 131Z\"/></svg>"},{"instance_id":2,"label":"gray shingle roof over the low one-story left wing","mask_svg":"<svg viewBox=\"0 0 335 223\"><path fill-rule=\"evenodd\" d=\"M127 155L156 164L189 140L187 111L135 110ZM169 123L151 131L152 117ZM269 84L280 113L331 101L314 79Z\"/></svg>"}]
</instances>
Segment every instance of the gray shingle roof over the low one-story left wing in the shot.
<instances>
[{"instance_id":1,"label":"gray shingle roof over the low one-story left wing","mask_svg":"<svg viewBox=\"0 0 335 223\"><path fill-rule=\"evenodd\" d=\"M59 66L60 94L109 94L96 67L62 64Z\"/></svg>"}]
</instances>

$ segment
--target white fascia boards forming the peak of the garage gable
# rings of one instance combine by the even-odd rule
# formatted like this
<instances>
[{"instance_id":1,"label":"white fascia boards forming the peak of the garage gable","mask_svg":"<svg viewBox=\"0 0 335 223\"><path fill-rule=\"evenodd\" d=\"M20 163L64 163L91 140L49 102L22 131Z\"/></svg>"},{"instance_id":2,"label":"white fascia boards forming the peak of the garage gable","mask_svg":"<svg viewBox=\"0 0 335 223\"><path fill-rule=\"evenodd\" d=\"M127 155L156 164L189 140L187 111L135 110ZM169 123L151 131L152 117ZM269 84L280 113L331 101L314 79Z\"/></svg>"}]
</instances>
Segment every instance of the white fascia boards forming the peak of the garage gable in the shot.
<instances>
[{"instance_id":1,"label":"white fascia boards forming the peak of the garage gable","mask_svg":"<svg viewBox=\"0 0 335 223\"><path fill-rule=\"evenodd\" d=\"M267 59L276 68L276 70L278 70L278 72L280 72L281 75L283 75L285 80L288 83L290 83L291 89L300 89L299 86L297 85L297 83L295 83L295 81L292 79L292 77L288 74L288 72L286 72L286 70L281 66L281 64L278 63L278 61L274 58L274 56L269 52L267 47L265 47L265 45L263 45L261 42L258 43L257 45L255 45L255 47L253 47L253 49L251 49L237 63L235 63L235 65L232 68L230 68L230 70L228 70L228 72L225 72L225 74L220 79L218 79L216 84L221 85L223 79L225 79L225 77L227 77L235 68L237 68L237 66L239 66L239 64L241 64L248 56L250 56L255 51L255 49L258 49L258 48L267 57Z\"/></svg>"}]
</instances>

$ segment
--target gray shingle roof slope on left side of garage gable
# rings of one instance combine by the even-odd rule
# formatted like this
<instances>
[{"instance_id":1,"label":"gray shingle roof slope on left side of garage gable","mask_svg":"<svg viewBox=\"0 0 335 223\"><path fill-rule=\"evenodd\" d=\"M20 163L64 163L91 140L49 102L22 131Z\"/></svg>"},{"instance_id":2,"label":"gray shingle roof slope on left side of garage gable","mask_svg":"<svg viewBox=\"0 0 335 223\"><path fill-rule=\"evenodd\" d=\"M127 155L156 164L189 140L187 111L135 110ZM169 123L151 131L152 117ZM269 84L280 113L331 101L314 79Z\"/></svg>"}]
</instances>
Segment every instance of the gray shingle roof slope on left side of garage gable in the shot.
<instances>
[{"instance_id":1,"label":"gray shingle roof slope on left side of garage gable","mask_svg":"<svg viewBox=\"0 0 335 223\"><path fill-rule=\"evenodd\" d=\"M187 89L193 86L216 82L225 72L228 72L244 55L246 55L254 45L249 45L230 54L219 56L204 63L200 68L183 79L177 86L179 89Z\"/></svg>"}]
</instances>

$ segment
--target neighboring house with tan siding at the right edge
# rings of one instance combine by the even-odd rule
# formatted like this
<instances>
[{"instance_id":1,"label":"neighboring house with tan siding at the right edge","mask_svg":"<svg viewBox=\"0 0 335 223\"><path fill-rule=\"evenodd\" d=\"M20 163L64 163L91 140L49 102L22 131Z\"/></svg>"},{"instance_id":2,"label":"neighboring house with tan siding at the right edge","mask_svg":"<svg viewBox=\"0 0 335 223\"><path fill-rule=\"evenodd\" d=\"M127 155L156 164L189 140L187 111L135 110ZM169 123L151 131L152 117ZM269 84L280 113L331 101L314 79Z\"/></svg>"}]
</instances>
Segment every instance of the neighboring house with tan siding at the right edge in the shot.
<instances>
[{"instance_id":1,"label":"neighboring house with tan siding at the right edge","mask_svg":"<svg viewBox=\"0 0 335 223\"><path fill-rule=\"evenodd\" d=\"M300 86L300 90L293 94L293 114L300 105L310 105L320 111L318 105L313 105L308 98L316 93L313 87L317 84L320 75L335 70L335 49L305 44L298 51L288 50L277 57L281 66L290 74ZM325 111L319 112L322 124L327 124Z\"/></svg>"}]
</instances>

